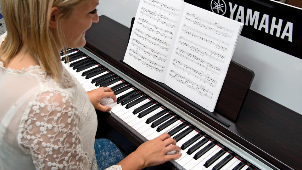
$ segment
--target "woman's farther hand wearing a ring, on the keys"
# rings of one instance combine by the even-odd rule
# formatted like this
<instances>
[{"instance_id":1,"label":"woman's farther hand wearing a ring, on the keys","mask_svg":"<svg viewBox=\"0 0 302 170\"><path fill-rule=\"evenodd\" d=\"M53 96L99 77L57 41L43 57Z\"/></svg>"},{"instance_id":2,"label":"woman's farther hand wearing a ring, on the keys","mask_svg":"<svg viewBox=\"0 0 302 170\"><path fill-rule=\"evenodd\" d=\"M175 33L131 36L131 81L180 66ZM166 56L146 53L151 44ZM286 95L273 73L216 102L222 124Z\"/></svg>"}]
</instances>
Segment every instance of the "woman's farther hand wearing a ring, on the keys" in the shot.
<instances>
[{"instance_id":1,"label":"woman's farther hand wearing a ring, on the keys","mask_svg":"<svg viewBox=\"0 0 302 170\"><path fill-rule=\"evenodd\" d=\"M103 98L111 97L113 101L116 102L116 96L109 87L100 87L95 90L88 91L87 94L93 107L103 112L111 110L111 107L104 106L100 103Z\"/></svg>"}]
</instances>

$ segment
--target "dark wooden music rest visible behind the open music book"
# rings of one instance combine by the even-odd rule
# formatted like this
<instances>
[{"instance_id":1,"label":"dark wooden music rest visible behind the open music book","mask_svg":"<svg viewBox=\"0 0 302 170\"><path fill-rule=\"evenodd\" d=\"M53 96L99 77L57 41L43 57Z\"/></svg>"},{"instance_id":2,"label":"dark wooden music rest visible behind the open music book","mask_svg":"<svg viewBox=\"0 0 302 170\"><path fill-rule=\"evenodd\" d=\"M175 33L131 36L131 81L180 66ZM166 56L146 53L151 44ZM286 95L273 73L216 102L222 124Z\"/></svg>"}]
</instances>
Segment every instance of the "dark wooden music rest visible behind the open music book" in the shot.
<instances>
[{"instance_id":1,"label":"dark wooden music rest visible behind the open music book","mask_svg":"<svg viewBox=\"0 0 302 170\"><path fill-rule=\"evenodd\" d=\"M130 35L132 31L132 27L134 24L135 17L131 20L130 33L128 38L128 43L130 40ZM219 98L216 103L215 112L219 112L232 120L236 121L240 110L243 106L246 95L248 94L249 88L254 79L254 72L235 61L231 60L228 71L226 73L226 78L221 88L221 92ZM173 92L174 93L174 92ZM175 95L179 96L182 99L189 100L179 93L175 93ZM193 101L190 100L192 105L197 105ZM199 106L197 106L199 107ZM205 110L205 109L204 109ZM210 115L215 119L215 115ZM218 119L221 122L221 120ZM221 122L225 126L229 126L225 122Z\"/></svg>"}]
</instances>

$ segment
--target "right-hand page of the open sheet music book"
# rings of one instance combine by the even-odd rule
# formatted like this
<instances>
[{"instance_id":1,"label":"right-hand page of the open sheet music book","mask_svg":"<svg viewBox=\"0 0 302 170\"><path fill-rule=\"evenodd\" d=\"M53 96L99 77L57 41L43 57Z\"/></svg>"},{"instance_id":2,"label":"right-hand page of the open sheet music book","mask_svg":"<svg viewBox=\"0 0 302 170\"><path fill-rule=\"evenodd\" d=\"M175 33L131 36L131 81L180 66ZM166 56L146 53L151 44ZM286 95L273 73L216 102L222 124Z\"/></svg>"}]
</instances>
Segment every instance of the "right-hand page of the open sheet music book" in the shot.
<instances>
[{"instance_id":1,"label":"right-hand page of the open sheet music book","mask_svg":"<svg viewBox=\"0 0 302 170\"><path fill-rule=\"evenodd\" d=\"M242 26L186 4L165 84L213 112Z\"/></svg>"}]
</instances>

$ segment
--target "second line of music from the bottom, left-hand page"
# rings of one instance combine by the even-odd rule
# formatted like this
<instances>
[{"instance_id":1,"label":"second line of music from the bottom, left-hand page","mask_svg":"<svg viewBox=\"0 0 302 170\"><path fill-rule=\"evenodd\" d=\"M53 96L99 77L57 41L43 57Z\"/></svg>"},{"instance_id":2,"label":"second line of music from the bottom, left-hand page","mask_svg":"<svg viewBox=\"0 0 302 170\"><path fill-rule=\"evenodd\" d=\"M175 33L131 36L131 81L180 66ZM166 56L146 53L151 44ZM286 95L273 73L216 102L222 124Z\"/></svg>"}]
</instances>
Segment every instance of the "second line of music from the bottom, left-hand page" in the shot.
<instances>
[{"instance_id":1,"label":"second line of music from the bottom, left-hand page","mask_svg":"<svg viewBox=\"0 0 302 170\"><path fill-rule=\"evenodd\" d=\"M133 46L137 47L137 49L143 51L145 54L164 62L167 61L167 55L159 53L153 48L149 48L146 44L139 42L137 39L133 39L131 43L133 44Z\"/></svg>"}]
</instances>

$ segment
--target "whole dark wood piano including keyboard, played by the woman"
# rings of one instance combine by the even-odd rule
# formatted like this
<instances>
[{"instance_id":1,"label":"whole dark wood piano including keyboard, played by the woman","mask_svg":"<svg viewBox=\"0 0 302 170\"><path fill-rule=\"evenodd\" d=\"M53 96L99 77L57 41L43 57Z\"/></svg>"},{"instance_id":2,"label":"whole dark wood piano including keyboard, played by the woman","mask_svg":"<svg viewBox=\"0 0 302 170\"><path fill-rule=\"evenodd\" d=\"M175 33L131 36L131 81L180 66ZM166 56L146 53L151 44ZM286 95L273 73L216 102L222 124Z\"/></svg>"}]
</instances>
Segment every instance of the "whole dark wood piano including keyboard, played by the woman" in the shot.
<instances>
[{"instance_id":1,"label":"whole dark wood piano including keyboard, played by the woman","mask_svg":"<svg viewBox=\"0 0 302 170\"><path fill-rule=\"evenodd\" d=\"M143 104L137 105L137 108L150 102L152 105L148 105L145 108L151 108L156 105L157 108L154 109L159 110L151 110L153 115L148 116L148 121L153 121L150 119L158 120L158 117L163 120L159 120L155 122L153 127L149 127L150 129L155 127L149 134L152 133L154 137L159 134L159 132L155 132L157 129L165 129L166 132L177 138L178 142L184 146L183 149L186 154L183 154L182 157L187 156L186 159L188 161L195 159L193 162L196 166L195 164L185 165L186 163L183 160L178 162L171 161L168 163L169 169L190 169L192 167L195 167L193 169L199 169L199 164L201 167L208 169L302 169L301 115L253 90L248 91L236 121L221 114L216 109L211 113L198 105L194 105L192 101L180 96L174 90L165 86L165 84L142 75L122 62L128 44L129 33L129 28L102 15L99 17L99 22L92 24L92 27L87 30L86 45L83 48L73 49L73 53L81 53L85 58L88 58L87 60L90 61L87 65L91 65L92 61L92 63L96 64L93 68L101 67L107 71L102 73L102 75L109 73L109 75L114 76L114 79L109 79L112 83L104 83L102 81L96 84L94 82L91 87L113 84L110 87L120 90L122 86L117 87L118 80L130 86L130 88L124 89L123 93L119 92L121 102L119 105L121 107L126 107L126 105L122 106L121 104L126 102L127 99L129 100L129 96L136 96L136 100L142 99L140 102L143 101L143 98L148 99ZM81 60L81 57L76 59ZM64 57L62 60L64 60ZM85 60L85 62L87 61ZM74 64L73 66L75 65L79 64ZM72 71L72 69L70 70ZM76 70L81 73L81 76L84 75L83 71L86 71L86 78L81 80L82 83L86 80L91 83L93 77L87 77L89 73L88 67L75 68L73 72L78 74ZM96 70L97 68L94 72ZM87 84L87 82L85 83ZM134 101L134 99L126 103L130 104L130 101ZM131 106L133 105L135 104ZM112 108L116 110L118 107L113 106ZM125 108L119 110L125 110ZM129 116L135 115L132 111L133 109L131 114L128 113ZM136 111L138 113L140 110ZM137 119L139 115L143 117L142 112L132 116L133 119ZM164 113L159 115L159 112ZM149 136L147 135L148 137L146 137L146 132L140 134L133 130L134 127L129 128L129 125L121 121L115 113L98 116L101 116L110 128L115 128L136 146L149 140L150 136L152 136L148 134ZM147 122L147 116L145 117L143 124L146 124L145 121ZM177 124L176 121L180 121L180 123ZM174 125L173 128L170 126L172 124ZM151 125L152 123L149 124L149 126ZM182 129L181 132L172 132L177 127L178 130ZM186 135L191 136L188 138ZM187 137L186 140L182 139L184 136ZM190 140L188 141L188 139ZM202 139L206 140L203 141L204 143L212 144L212 146L203 146L204 149L201 149L202 147L197 148L197 145L201 146L204 144ZM206 149L207 147L210 148ZM216 148L213 149L214 147ZM208 154L207 156L201 154L209 150L215 150L215 153L213 152L212 155ZM191 158L188 158L190 157L189 153ZM207 157L207 159L204 162L197 162L203 156L204 158ZM226 168L227 164L229 168Z\"/></svg>"}]
</instances>

